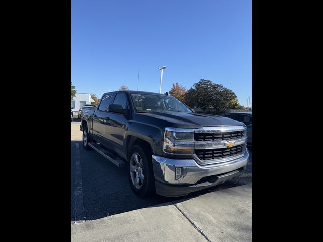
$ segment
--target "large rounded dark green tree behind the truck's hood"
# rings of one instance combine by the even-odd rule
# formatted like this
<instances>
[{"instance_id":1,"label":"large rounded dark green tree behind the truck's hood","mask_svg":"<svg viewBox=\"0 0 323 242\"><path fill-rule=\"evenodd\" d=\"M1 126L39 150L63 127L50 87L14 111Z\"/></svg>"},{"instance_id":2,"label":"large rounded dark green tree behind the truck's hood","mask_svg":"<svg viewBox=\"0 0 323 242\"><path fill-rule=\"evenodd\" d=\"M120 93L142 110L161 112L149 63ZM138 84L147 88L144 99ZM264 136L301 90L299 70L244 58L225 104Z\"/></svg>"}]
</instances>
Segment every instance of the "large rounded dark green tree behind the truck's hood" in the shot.
<instances>
[{"instance_id":1,"label":"large rounded dark green tree behind the truck's hood","mask_svg":"<svg viewBox=\"0 0 323 242\"><path fill-rule=\"evenodd\" d=\"M195 83L185 95L185 103L192 108L216 109L217 113L225 109L237 109L239 102L236 94L222 84L214 84L210 80L201 79Z\"/></svg>"}]
</instances>

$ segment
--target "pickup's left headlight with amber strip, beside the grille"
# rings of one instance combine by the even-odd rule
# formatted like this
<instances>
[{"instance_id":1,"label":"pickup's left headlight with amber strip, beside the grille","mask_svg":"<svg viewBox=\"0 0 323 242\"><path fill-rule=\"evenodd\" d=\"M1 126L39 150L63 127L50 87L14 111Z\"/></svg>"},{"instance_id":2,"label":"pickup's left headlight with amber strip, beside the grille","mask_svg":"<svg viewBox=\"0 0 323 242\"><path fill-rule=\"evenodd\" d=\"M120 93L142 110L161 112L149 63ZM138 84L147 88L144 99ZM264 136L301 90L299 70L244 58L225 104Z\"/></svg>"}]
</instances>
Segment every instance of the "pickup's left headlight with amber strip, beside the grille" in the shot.
<instances>
[{"instance_id":1,"label":"pickup's left headlight with amber strip, beside the grille","mask_svg":"<svg viewBox=\"0 0 323 242\"><path fill-rule=\"evenodd\" d=\"M194 129L166 127L163 151L170 154L194 153Z\"/></svg>"}]
</instances>

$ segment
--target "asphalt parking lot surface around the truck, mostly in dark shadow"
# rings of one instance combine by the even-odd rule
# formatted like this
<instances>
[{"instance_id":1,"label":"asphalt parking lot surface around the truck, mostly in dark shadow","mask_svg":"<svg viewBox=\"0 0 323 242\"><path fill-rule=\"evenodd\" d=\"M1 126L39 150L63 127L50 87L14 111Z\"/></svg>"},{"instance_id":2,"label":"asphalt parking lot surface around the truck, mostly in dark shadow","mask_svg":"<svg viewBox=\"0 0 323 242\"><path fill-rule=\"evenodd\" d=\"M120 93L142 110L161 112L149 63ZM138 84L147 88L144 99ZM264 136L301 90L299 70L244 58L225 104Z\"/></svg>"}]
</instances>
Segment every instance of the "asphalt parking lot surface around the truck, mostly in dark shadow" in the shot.
<instances>
[{"instance_id":1,"label":"asphalt parking lot surface around the truck, mostly in dark shadow","mask_svg":"<svg viewBox=\"0 0 323 242\"><path fill-rule=\"evenodd\" d=\"M249 150L245 173L227 183L180 198L159 195L139 198L130 188L125 168L116 167L94 150L83 149L79 126L77 119L71 122L71 224L252 183L252 150Z\"/></svg>"}]
</instances>

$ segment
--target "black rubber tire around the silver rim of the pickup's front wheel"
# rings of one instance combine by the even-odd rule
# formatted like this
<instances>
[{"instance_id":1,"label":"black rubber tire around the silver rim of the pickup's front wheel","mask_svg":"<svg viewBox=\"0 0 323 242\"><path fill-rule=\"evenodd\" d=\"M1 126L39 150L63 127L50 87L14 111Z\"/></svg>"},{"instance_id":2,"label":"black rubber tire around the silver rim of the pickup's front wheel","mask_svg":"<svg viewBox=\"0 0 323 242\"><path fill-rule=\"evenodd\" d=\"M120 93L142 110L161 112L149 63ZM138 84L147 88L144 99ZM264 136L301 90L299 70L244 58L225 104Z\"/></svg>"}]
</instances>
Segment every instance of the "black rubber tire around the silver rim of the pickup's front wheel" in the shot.
<instances>
[{"instance_id":1,"label":"black rubber tire around the silver rim of the pickup's front wheel","mask_svg":"<svg viewBox=\"0 0 323 242\"><path fill-rule=\"evenodd\" d=\"M141 160L143 164L143 167L140 168L140 172L143 171L143 182L141 182L141 176L140 175L137 176L138 170L134 172L130 172L131 163L132 163L132 166L133 164L136 163L136 161L132 159L132 157L135 156L135 154L138 154L140 156L139 160ZM127 171L128 171L128 178L129 178L131 189L132 191L134 191L135 194L137 194L139 197L145 197L155 192L155 176L153 173L150 147L146 148L146 147L141 147L139 145L134 145L132 147L130 155L127 159ZM136 178L134 177L139 177L139 183L138 183L139 188L135 187L133 179L136 179Z\"/></svg>"}]
</instances>

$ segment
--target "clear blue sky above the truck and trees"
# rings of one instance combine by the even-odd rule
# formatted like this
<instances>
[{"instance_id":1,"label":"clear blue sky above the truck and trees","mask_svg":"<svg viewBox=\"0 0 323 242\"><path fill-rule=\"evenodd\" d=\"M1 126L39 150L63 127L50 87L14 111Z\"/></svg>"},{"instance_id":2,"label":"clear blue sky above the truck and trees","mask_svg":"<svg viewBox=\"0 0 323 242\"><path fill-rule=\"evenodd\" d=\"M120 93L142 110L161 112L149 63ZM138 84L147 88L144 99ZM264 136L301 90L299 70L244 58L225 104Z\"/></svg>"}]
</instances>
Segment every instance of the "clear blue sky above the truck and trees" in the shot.
<instances>
[{"instance_id":1,"label":"clear blue sky above the truck and trees","mask_svg":"<svg viewBox=\"0 0 323 242\"><path fill-rule=\"evenodd\" d=\"M71 81L77 92L162 92L200 79L252 103L252 1L72 0Z\"/></svg>"}]
</instances>

